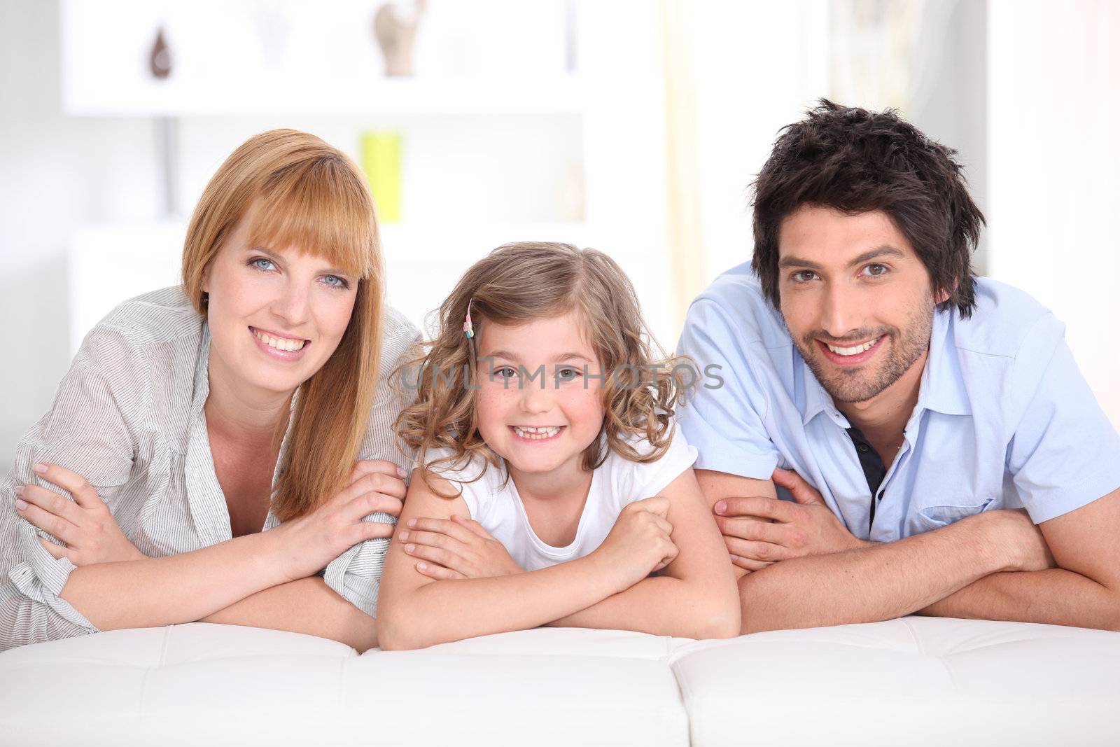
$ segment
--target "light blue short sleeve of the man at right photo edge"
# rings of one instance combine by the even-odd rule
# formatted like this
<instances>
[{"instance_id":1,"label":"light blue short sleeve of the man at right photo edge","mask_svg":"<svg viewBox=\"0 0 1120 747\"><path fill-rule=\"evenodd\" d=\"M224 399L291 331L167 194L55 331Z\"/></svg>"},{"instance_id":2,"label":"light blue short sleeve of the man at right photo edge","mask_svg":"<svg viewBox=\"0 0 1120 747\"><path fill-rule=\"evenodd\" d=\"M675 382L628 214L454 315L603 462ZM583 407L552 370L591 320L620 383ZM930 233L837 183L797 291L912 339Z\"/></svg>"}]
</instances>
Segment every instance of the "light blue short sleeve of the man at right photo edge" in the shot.
<instances>
[{"instance_id":1,"label":"light blue short sleeve of the man at right photo edge","mask_svg":"<svg viewBox=\"0 0 1120 747\"><path fill-rule=\"evenodd\" d=\"M1008 447L1010 483L1034 522L1120 487L1120 436L1101 410L1047 315L1016 355L1009 395L1020 419Z\"/></svg>"}]
</instances>

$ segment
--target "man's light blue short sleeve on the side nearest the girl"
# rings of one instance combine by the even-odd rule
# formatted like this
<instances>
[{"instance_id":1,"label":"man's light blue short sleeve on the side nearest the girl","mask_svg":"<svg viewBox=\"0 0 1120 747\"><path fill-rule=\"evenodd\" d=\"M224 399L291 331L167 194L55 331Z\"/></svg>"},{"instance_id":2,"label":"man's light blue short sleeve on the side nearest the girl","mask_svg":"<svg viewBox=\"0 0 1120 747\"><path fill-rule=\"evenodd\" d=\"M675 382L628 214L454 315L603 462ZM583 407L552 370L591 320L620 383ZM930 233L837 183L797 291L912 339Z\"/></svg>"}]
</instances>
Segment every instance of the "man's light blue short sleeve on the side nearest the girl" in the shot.
<instances>
[{"instance_id":1,"label":"man's light blue short sleeve on the side nearest the girl","mask_svg":"<svg viewBox=\"0 0 1120 747\"><path fill-rule=\"evenodd\" d=\"M769 479L778 450L764 426L767 396L750 343L715 301L692 304L676 353L690 356L699 374L678 422L699 452L697 469Z\"/></svg>"}]
</instances>

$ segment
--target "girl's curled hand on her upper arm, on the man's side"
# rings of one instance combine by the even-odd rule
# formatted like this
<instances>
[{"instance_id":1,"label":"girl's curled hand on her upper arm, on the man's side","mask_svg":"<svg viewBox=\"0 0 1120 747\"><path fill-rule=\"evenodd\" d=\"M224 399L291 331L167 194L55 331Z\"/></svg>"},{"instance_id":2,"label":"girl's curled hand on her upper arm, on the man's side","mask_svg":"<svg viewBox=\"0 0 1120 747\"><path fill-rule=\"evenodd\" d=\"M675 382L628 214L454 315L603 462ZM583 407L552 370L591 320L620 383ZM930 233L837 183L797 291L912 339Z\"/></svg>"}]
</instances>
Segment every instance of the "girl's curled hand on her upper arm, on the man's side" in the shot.
<instances>
[{"instance_id":1,"label":"girl's curled hand on her upper arm, on the man's side","mask_svg":"<svg viewBox=\"0 0 1120 747\"><path fill-rule=\"evenodd\" d=\"M607 567L619 573L625 591L650 573L673 562L679 552L670 539L669 498L654 496L623 508L614 527L595 551L607 558Z\"/></svg>"}]
</instances>

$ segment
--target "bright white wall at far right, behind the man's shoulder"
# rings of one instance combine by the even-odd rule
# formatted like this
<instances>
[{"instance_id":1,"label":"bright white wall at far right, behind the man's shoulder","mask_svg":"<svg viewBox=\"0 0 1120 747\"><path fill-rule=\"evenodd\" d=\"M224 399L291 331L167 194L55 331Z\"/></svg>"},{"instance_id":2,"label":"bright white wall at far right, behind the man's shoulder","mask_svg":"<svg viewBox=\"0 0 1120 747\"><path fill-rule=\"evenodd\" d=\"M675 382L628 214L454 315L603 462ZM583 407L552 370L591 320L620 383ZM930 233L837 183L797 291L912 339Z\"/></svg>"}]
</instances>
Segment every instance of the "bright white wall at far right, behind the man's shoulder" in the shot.
<instances>
[{"instance_id":1,"label":"bright white wall at far right, behind the man's shoulder","mask_svg":"<svg viewBox=\"0 0 1120 747\"><path fill-rule=\"evenodd\" d=\"M1120 3L990 0L989 272L1066 324L1120 428Z\"/></svg>"}]
</instances>

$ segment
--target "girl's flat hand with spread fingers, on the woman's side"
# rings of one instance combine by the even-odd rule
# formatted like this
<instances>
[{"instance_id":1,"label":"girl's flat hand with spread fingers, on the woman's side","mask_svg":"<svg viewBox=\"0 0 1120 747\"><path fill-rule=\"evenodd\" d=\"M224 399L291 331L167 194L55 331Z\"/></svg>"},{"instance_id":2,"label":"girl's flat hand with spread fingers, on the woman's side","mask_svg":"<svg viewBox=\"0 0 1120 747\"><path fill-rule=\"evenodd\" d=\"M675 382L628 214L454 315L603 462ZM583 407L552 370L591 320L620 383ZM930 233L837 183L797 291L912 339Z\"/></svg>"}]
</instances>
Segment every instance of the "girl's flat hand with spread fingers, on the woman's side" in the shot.
<instances>
[{"instance_id":1,"label":"girl's flat hand with spread fingers, on the woman's side","mask_svg":"<svg viewBox=\"0 0 1120 747\"><path fill-rule=\"evenodd\" d=\"M473 519L410 519L396 535L404 552L417 558L417 570L436 580L513 576L522 568L505 545Z\"/></svg>"}]
</instances>

